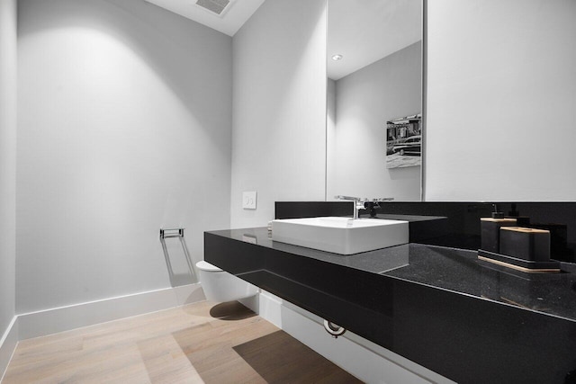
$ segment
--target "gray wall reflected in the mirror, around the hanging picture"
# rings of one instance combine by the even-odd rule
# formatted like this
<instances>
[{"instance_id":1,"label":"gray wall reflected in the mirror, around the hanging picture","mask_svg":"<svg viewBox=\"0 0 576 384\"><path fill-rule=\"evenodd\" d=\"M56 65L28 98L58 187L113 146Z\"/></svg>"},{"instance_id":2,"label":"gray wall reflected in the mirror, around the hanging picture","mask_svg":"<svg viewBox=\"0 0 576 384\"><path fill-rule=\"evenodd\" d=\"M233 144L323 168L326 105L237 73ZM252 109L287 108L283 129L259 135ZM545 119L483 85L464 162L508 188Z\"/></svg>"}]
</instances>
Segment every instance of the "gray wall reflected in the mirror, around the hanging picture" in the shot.
<instances>
[{"instance_id":1,"label":"gray wall reflected in the mirror, around the hanging picture","mask_svg":"<svg viewBox=\"0 0 576 384\"><path fill-rule=\"evenodd\" d=\"M420 50L412 44L329 87L329 199L420 200L419 166L386 168L386 121L422 112Z\"/></svg>"}]
</instances>

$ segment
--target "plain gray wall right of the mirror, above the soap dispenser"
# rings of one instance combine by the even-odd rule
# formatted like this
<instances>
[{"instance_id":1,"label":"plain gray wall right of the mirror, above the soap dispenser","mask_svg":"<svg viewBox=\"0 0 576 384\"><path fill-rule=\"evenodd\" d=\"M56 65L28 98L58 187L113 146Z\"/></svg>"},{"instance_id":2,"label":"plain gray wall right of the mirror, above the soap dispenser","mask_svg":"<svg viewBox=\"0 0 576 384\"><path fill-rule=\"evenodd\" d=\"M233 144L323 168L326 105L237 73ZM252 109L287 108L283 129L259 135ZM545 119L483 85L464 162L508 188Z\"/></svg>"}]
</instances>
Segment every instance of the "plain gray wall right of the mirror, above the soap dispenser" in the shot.
<instances>
[{"instance_id":1,"label":"plain gray wall right of the mirror, above the soap dispenser","mask_svg":"<svg viewBox=\"0 0 576 384\"><path fill-rule=\"evenodd\" d=\"M428 2L428 201L576 201L576 2Z\"/></svg>"}]
</instances>

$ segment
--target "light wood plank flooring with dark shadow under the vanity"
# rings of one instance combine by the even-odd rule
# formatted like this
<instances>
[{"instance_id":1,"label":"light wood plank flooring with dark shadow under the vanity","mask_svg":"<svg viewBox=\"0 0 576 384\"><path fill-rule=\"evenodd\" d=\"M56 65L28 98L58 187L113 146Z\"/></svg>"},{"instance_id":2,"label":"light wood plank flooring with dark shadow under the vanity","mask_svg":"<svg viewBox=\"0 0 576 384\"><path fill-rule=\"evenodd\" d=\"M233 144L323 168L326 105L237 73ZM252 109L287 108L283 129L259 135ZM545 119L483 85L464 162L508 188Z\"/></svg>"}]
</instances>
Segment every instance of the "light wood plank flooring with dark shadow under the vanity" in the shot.
<instances>
[{"instance_id":1,"label":"light wood plank flooring with dark shadow under the vanity","mask_svg":"<svg viewBox=\"0 0 576 384\"><path fill-rule=\"evenodd\" d=\"M238 302L208 301L18 344L2 384L356 383Z\"/></svg>"}]
</instances>

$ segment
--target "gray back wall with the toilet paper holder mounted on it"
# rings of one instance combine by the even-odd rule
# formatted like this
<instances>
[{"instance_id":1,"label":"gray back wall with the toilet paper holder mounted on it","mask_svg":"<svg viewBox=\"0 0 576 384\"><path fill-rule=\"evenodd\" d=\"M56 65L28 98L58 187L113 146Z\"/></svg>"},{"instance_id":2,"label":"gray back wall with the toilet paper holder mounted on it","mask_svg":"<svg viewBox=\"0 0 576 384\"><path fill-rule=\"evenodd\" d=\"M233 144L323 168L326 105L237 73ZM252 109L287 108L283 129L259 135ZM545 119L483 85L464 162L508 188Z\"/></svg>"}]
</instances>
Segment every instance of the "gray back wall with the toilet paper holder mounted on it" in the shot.
<instances>
[{"instance_id":1,"label":"gray back wall with the toilet paper holder mounted on it","mask_svg":"<svg viewBox=\"0 0 576 384\"><path fill-rule=\"evenodd\" d=\"M17 313L193 282L158 230L196 261L229 227L231 38L139 0L19 7Z\"/></svg>"}]
</instances>

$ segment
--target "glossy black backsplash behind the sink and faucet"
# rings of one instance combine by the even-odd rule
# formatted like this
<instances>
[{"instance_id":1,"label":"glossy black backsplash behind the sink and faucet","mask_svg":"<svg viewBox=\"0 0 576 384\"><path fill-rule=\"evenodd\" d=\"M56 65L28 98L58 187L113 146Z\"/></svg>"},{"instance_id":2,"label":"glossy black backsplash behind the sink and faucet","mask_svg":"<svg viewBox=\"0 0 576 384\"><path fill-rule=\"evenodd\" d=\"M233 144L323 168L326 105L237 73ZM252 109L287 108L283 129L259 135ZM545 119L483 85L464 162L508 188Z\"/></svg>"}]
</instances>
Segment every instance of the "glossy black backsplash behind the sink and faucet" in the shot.
<instances>
[{"instance_id":1,"label":"glossy black backsplash behind the sink and faucet","mask_svg":"<svg viewBox=\"0 0 576 384\"><path fill-rule=\"evenodd\" d=\"M576 202L384 202L376 211L380 219L395 219L395 215L446 217L442 233L424 237L419 243L479 249L481 218L491 217L496 208L506 216L529 220L526 227L548 229L551 232L551 257L564 262L576 262ZM352 216L350 201L276 201L275 219L315 216ZM360 217L368 218L367 210ZM397 219L397 218L396 218Z\"/></svg>"}]
</instances>

